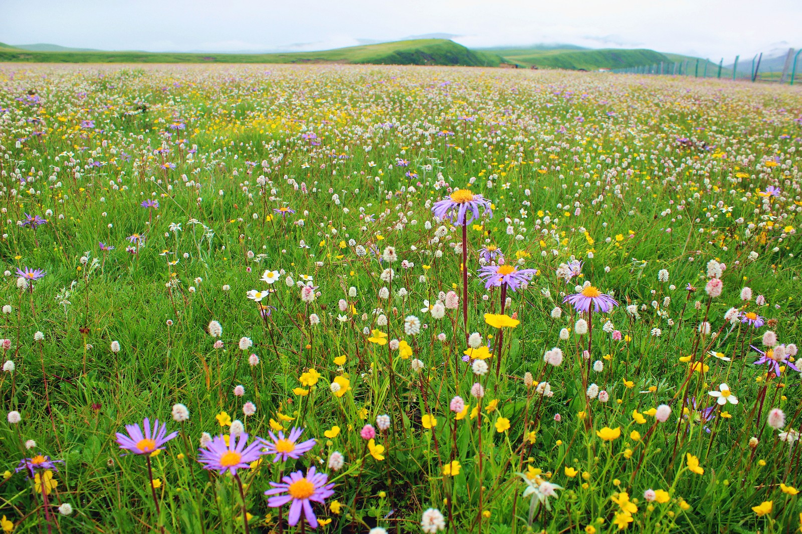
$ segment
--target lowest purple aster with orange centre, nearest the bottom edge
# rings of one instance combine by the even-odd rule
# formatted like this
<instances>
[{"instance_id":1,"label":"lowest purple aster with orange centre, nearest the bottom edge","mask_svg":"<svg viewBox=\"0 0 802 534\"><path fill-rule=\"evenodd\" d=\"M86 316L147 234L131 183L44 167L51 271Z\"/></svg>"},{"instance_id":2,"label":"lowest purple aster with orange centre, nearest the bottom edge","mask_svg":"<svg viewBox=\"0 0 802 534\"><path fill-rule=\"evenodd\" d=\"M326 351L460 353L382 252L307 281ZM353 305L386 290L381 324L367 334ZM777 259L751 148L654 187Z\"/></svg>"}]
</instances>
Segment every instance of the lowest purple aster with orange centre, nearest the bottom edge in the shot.
<instances>
[{"instance_id":1,"label":"lowest purple aster with orange centre, nearest the bottom edge","mask_svg":"<svg viewBox=\"0 0 802 534\"><path fill-rule=\"evenodd\" d=\"M332 489L334 483L327 484L328 479L329 476L326 473L315 472L314 467L310 467L309 471L306 471L306 476L303 475L303 471L290 473L289 476L282 478L282 482L270 483L273 489L265 492L266 496L271 496L267 500L267 505L278 508L292 502L290 515L287 516L290 526L294 527L298 524L303 509L306 522L310 524L310 527L317 528L318 518L314 516L310 501L324 504L327 498L334 495ZM281 495L282 493L286 493L286 495Z\"/></svg>"}]
</instances>

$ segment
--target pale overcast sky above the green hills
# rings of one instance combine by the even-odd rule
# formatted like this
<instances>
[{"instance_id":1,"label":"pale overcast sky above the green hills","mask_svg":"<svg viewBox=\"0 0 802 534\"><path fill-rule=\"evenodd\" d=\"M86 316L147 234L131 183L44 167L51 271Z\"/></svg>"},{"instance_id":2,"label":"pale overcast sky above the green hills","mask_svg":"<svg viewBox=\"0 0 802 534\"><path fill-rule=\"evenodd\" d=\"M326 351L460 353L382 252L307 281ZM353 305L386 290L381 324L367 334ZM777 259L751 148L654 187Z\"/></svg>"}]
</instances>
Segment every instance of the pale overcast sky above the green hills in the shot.
<instances>
[{"instance_id":1,"label":"pale overcast sky above the green hills","mask_svg":"<svg viewBox=\"0 0 802 534\"><path fill-rule=\"evenodd\" d=\"M452 34L711 59L802 47L800 0L0 0L0 42L141 51L323 50Z\"/></svg>"}]
</instances>

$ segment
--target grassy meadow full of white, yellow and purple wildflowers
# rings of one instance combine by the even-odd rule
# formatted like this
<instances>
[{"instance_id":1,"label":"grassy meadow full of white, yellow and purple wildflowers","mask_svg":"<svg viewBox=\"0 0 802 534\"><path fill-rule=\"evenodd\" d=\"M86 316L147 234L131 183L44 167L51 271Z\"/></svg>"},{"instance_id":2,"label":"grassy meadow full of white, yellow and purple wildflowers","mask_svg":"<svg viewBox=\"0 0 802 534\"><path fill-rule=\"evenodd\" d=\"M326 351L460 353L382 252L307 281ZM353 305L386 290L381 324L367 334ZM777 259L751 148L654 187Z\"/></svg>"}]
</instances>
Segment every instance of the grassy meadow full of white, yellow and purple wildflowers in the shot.
<instances>
[{"instance_id":1,"label":"grassy meadow full of white, yellow and purple wildflowers","mask_svg":"<svg viewBox=\"0 0 802 534\"><path fill-rule=\"evenodd\" d=\"M0 66L0 528L796 531L800 117L725 80Z\"/></svg>"}]
</instances>

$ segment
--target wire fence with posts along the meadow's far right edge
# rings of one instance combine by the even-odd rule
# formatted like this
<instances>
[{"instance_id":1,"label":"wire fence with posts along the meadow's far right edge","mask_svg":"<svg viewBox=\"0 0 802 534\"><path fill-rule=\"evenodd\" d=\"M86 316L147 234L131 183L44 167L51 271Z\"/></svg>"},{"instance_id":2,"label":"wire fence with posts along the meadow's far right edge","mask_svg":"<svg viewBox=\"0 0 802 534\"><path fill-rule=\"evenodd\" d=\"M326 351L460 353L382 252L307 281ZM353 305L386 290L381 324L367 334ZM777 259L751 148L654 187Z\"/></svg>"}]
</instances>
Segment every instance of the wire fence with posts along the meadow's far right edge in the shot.
<instances>
[{"instance_id":1,"label":"wire fence with posts along the meadow's far right edge","mask_svg":"<svg viewBox=\"0 0 802 534\"><path fill-rule=\"evenodd\" d=\"M736 55L735 61L724 65L722 58L719 63L713 63L710 59L681 58L678 61L661 61L651 65L639 65L637 67L624 67L612 69L614 73L629 73L642 75L670 75L670 76L693 76L695 78L718 78L718 79L740 79L751 82L769 83L789 83L794 84L797 74L802 78L802 65L800 62L802 49L795 51L788 49L788 53L781 56L773 56L764 59L763 53L755 54L751 59L742 59ZM796 80L797 83L800 80Z\"/></svg>"}]
</instances>

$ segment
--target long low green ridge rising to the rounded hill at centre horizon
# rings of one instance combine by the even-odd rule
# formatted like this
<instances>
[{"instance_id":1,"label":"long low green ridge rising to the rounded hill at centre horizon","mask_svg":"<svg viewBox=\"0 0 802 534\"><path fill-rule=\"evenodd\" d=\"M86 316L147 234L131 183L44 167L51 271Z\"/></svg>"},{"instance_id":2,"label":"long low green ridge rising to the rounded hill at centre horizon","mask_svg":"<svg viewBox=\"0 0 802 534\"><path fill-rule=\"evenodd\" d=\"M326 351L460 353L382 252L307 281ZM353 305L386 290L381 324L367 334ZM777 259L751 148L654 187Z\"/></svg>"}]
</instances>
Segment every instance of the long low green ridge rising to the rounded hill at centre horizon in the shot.
<instances>
[{"instance_id":1,"label":"long low green ridge rising to the rounded hill at centre horizon","mask_svg":"<svg viewBox=\"0 0 802 534\"><path fill-rule=\"evenodd\" d=\"M373 63L498 67L503 59L448 39L415 39L285 54L182 54L134 51L20 51L0 48L0 61L28 63Z\"/></svg>"}]
</instances>

